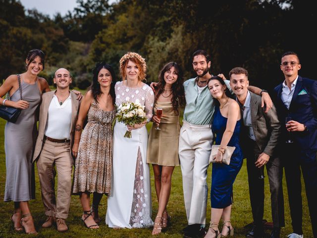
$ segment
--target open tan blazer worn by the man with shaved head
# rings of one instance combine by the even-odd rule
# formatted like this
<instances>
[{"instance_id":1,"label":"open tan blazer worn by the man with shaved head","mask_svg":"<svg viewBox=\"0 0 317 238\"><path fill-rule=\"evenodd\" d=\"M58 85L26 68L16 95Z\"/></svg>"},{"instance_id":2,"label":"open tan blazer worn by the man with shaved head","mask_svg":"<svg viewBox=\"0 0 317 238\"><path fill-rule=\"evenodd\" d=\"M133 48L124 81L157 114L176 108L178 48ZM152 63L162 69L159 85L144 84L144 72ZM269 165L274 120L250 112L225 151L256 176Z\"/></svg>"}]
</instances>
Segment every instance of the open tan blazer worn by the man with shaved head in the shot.
<instances>
[{"instance_id":1,"label":"open tan blazer worn by the man with shaved head","mask_svg":"<svg viewBox=\"0 0 317 238\"><path fill-rule=\"evenodd\" d=\"M49 107L50 107L50 103L53 99L55 91L47 92L42 95L42 103L40 107L40 116L39 116L40 117L39 135L36 140L32 162L38 159L43 147L44 132L45 132L45 127L46 127L46 123L48 119ZM70 92L70 96L71 96L71 124L70 124L70 128L71 128L70 129L70 151L71 151L72 145L74 144L75 124L76 124L78 113L79 113L80 102L76 99L77 96L73 92ZM71 152L70 152L70 156L72 157Z\"/></svg>"}]
</instances>

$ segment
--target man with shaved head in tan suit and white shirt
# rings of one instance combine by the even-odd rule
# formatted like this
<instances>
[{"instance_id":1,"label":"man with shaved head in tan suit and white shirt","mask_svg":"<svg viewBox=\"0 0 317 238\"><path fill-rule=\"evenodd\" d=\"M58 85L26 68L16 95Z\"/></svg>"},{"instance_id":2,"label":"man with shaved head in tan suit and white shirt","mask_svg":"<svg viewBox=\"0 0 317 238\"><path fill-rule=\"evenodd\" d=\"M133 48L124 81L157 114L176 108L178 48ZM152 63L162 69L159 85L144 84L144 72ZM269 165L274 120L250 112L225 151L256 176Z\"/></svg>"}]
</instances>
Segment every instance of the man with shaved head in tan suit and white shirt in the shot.
<instances>
[{"instance_id":1,"label":"man with shaved head in tan suit and white shirt","mask_svg":"<svg viewBox=\"0 0 317 238\"><path fill-rule=\"evenodd\" d=\"M73 157L71 147L80 102L76 94L69 91L72 81L65 68L56 70L54 79L56 90L44 93L40 107L39 135L36 141L33 162L37 161L41 194L48 216L44 228L57 224L57 231L65 232L71 195L71 173ZM54 179L57 179L57 198Z\"/></svg>"}]
</instances>

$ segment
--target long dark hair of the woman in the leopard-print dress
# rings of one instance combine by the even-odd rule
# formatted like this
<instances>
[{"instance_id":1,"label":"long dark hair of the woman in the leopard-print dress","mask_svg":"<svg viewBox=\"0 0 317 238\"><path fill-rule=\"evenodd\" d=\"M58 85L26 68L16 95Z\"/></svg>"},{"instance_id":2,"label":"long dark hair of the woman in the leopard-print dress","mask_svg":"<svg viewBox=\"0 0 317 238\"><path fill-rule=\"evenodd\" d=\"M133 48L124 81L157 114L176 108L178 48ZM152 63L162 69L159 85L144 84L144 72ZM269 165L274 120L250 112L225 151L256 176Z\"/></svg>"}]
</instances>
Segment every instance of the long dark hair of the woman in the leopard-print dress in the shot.
<instances>
[{"instance_id":1,"label":"long dark hair of the woman in the leopard-print dress","mask_svg":"<svg viewBox=\"0 0 317 238\"><path fill-rule=\"evenodd\" d=\"M101 95L101 90L100 90L100 84L98 82L98 74L102 68L106 68L109 70L111 74L111 85L110 85L110 96L112 98L112 104L115 104L115 92L114 92L114 85L116 82L116 77L113 68L111 67L110 64L107 64L105 62L101 63L96 63L96 67L93 68L93 81L91 83L90 89L93 93L94 99L97 101L98 96Z\"/></svg>"}]
</instances>

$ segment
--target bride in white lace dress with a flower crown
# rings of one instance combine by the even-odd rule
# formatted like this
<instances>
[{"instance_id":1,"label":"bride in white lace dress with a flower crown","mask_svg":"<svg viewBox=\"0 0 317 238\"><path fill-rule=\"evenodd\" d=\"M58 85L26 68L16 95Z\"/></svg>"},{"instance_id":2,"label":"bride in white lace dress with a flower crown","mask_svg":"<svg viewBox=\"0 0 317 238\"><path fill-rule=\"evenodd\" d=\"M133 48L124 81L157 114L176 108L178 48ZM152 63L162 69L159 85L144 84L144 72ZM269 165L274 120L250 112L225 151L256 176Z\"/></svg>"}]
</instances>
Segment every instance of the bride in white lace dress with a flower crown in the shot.
<instances>
[{"instance_id":1,"label":"bride in white lace dress with a flower crown","mask_svg":"<svg viewBox=\"0 0 317 238\"><path fill-rule=\"evenodd\" d=\"M152 118L153 90L141 80L146 63L137 53L127 53L120 60L122 81L115 85L115 104L124 101L145 106ZM146 228L153 226L150 170L147 161L146 123L128 126L132 138L125 138L127 126L116 121L113 129L112 192L108 196L106 224L111 228Z\"/></svg>"}]
</instances>

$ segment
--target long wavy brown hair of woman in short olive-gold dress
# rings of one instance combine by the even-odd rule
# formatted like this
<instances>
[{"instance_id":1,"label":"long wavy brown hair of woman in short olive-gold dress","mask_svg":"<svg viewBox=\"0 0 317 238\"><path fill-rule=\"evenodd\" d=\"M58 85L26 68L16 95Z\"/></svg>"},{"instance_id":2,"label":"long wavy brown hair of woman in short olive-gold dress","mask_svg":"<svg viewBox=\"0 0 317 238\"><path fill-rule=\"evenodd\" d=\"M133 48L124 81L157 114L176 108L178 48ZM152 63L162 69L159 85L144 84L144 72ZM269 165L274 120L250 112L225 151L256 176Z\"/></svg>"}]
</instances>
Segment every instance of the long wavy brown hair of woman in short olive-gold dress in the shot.
<instances>
[{"instance_id":1,"label":"long wavy brown hair of woman in short olive-gold dress","mask_svg":"<svg viewBox=\"0 0 317 238\"><path fill-rule=\"evenodd\" d=\"M167 70L170 70L171 67L175 68L175 71L177 73L177 80L175 83L172 84L172 105L173 105L173 111L176 115L178 115L178 109L179 106L185 105L185 92L183 87L183 72L179 65L176 62L169 62L166 63L163 68L159 72L159 83L157 85L158 87L158 94L155 97L155 101L158 100L159 95L163 93L164 87L165 87L165 80L164 80L164 73Z\"/></svg>"}]
</instances>

